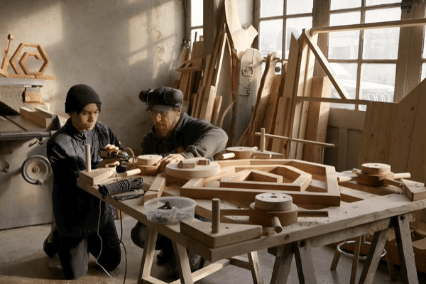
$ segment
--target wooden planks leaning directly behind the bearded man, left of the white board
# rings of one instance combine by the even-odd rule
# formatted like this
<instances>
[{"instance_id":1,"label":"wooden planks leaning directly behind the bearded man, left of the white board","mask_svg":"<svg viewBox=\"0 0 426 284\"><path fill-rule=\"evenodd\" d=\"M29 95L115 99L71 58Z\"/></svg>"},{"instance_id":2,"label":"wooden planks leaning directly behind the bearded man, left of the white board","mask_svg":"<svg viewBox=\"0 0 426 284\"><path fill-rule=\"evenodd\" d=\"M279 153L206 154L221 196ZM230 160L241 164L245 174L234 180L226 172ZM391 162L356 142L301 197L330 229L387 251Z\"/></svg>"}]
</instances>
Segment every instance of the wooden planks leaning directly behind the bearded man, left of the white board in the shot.
<instances>
[{"instance_id":1,"label":"wooden planks leaning directly behind the bearded man, left of the white board","mask_svg":"<svg viewBox=\"0 0 426 284\"><path fill-rule=\"evenodd\" d=\"M224 57L227 53L231 58L232 85L229 86L229 89L232 89L233 97L235 97L239 77L238 53L250 48L257 34L253 26L241 27L236 1L225 0L224 17L219 26L217 38L214 40L213 53L202 59L202 40L196 41L190 57L182 58L182 66L178 68L178 71L182 72L179 88L184 93L188 114L212 122L214 125L222 126L223 116L226 112L222 114L222 118L219 118L222 96L217 96L216 93ZM194 51L199 49L200 51ZM184 55L187 53L187 51L184 52ZM187 74L189 72L199 72L198 74L201 75L191 77Z\"/></svg>"}]
</instances>

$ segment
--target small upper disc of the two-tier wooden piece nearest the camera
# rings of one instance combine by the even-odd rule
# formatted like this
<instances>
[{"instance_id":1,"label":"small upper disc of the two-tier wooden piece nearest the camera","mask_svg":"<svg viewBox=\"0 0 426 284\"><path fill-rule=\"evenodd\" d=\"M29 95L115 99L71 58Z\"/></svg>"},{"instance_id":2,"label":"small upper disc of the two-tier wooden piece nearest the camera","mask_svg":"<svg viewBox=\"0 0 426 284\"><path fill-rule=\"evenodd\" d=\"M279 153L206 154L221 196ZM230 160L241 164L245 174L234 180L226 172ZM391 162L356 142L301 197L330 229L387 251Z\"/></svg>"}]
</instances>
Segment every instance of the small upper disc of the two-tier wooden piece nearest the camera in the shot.
<instances>
[{"instance_id":1,"label":"small upper disc of the two-tier wooden piece nearest the camera","mask_svg":"<svg viewBox=\"0 0 426 284\"><path fill-rule=\"evenodd\" d=\"M265 211L285 211L291 209L293 197L285 193L261 193L256 195L255 207Z\"/></svg>"}]
</instances>

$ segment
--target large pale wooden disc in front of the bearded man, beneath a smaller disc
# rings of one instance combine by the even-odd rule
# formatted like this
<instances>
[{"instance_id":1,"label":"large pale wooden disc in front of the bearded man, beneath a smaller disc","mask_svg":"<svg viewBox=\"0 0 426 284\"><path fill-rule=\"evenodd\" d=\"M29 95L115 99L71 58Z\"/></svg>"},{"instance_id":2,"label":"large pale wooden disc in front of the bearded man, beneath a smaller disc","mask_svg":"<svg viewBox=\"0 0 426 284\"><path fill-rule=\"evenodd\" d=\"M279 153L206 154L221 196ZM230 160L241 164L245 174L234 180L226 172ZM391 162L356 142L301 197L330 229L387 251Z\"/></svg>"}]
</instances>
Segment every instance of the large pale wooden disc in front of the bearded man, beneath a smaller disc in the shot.
<instances>
[{"instance_id":1,"label":"large pale wooden disc in front of the bearded man, beneath a smaller disc","mask_svg":"<svg viewBox=\"0 0 426 284\"><path fill-rule=\"evenodd\" d=\"M165 173L175 178L190 180L192 178L208 178L220 172L218 163L209 165L197 165L195 168L179 168L178 163L170 163L165 166Z\"/></svg>"}]
</instances>

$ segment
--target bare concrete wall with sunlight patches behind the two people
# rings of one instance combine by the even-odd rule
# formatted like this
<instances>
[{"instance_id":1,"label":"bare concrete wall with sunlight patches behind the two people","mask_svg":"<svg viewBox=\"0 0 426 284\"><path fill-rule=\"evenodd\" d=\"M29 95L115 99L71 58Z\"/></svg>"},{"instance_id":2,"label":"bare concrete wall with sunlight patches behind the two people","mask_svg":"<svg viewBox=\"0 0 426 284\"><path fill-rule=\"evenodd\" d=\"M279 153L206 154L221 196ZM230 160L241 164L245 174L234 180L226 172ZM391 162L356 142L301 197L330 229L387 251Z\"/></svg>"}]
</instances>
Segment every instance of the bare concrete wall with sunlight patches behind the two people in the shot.
<instances>
[{"instance_id":1,"label":"bare concrete wall with sunlight patches behind the two people","mask_svg":"<svg viewBox=\"0 0 426 284\"><path fill-rule=\"evenodd\" d=\"M138 153L143 134L152 126L138 93L171 85L177 76L184 36L182 2L0 1L0 49L6 48L9 33L14 36L9 58L19 43L40 44L50 60L44 75L56 77L42 88L50 111L66 116L67 90L89 84L102 98L99 120L124 147Z\"/></svg>"}]
</instances>

